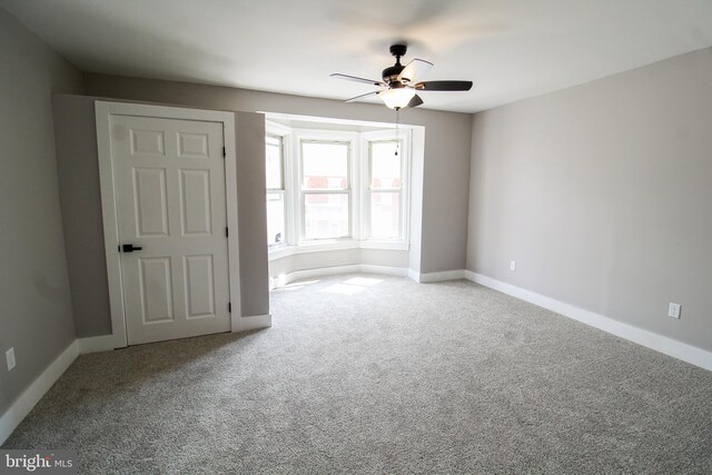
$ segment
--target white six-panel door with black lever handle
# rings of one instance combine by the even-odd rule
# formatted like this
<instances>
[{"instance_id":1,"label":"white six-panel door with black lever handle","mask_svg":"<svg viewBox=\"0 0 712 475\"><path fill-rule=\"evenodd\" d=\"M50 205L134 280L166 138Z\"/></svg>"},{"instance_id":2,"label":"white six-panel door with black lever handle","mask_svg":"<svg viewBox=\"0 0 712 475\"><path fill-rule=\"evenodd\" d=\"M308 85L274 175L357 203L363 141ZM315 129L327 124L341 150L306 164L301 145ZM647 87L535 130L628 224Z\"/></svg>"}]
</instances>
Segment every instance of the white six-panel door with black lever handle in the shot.
<instances>
[{"instance_id":1,"label":"white six-panel door with black lever handle","mask_svg":"<svg viewBox=\"0 0 712 475\"><path fill-rule=\"evenodd\" d=\"M128 344L229 331L222 123L111 116L109 129Z\"/></svg>"}]
</instances>

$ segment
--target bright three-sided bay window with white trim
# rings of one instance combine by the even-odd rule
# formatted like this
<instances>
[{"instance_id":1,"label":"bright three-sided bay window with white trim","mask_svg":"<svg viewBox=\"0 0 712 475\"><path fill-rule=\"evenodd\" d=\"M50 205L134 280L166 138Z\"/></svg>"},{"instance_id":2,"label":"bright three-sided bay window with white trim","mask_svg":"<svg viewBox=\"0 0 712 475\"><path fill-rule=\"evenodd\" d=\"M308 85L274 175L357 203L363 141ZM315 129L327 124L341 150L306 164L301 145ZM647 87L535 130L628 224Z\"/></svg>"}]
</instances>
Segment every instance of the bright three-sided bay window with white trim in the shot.
<instances>
[{"instance_id":1,"label":"bright three-sided bay window with white trim","mask_svg":"<svg viewBox=\"0 0 712 475\"><path fill-rule=\"evenodd\" d=\"M349 248L408 250L411 131L295 122L267 122L270 259Z\"/></svg>"}]
</instances>

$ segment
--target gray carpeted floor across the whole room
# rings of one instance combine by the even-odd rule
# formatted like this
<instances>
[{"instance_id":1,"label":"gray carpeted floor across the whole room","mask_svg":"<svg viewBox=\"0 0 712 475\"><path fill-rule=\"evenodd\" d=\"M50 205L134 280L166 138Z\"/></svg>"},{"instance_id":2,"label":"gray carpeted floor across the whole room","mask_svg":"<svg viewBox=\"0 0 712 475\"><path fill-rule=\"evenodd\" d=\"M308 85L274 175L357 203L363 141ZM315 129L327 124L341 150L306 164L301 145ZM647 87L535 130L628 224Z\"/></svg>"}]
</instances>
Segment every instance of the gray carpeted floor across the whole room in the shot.
<instances>
[{"instance_id":1,"label":"gray carpeted floor across the whole room","mask_svg":"<svg viewBox=\"0 0 712 475\"><path fill-rule=\"evenodd\" d=\"M467 281L350 275L274 326L80 356L3 448L81 473L712 473L712 373Z\"/></svg>"}]
</instances>

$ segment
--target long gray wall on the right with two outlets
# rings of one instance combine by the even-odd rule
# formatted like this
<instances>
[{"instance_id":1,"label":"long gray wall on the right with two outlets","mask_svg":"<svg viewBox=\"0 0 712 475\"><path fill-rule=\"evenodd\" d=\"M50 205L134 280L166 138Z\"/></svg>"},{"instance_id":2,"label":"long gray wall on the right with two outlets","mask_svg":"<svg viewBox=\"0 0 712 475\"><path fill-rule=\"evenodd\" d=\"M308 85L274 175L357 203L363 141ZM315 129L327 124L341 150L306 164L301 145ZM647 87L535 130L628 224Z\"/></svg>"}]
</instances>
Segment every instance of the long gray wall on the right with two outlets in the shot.
<instances>
[{"instance_id":1,"label":"long gray wall on the right with two outlets","mask_svg":"<svg viewBox=\"0 0 712 475\"><path fill-rule=\"evenodd\" d=\"M467 268L712 350L711 85L705 49L477 113Z\"/></svg>"}]
</instances>

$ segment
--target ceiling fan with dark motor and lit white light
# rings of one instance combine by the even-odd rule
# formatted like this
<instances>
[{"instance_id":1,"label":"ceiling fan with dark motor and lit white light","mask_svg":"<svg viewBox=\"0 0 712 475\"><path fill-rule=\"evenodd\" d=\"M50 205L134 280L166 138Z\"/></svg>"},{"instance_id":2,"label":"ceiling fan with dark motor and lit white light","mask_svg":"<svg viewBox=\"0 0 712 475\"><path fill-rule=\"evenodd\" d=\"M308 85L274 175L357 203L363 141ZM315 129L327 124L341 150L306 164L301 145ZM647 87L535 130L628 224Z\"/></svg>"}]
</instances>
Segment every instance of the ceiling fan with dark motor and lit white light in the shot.
<instances>
[{"instance_id":1,"label":"ceiling fan with dark motor and lit white light","mask_svg":"<svg viewBox=\"0 0 712 475\"><path fill-rule=\"evenodd\" d=\"M396 58L396 63L383 70L383 80L365 79L356 76L334 73L332 78L347 79L349 81L365 82L379 86L382 90L367 92L347 99L353 102L369 96L377 95L390 109L402 109L404 107L418 107L423 99L416 91L468 91L472 81L421 81L419 77L425 75L433 67L433 63L423 59L414 59L406 66L400 65L400 57L405 56L407 44L393 44L390 55Z\"/></svg>"}]
</instances>

